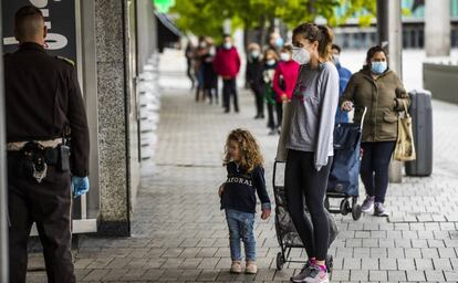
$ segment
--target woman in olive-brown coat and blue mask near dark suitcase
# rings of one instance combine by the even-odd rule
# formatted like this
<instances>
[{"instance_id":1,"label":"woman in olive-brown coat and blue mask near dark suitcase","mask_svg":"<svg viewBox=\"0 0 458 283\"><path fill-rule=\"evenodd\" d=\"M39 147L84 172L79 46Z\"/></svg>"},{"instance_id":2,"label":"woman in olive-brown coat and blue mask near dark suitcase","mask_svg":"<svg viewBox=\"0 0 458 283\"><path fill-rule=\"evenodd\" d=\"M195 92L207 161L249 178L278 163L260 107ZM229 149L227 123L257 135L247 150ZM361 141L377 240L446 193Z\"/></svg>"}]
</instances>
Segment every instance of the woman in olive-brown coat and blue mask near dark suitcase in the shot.
<instances>
[{"instance_id":1,"label":"woman in olive-brown coat and blue mask near dark suitcase","mask_svg":"<svg viewBox=\"0 0 458 283\"><path fill-rule=\"evenodd\" d=\"M367 107L363 125L363 161L361 179L366 189L362 210L386 217L385 195L388 166L397 139L397 119L409 98L399 77L388 69L386 52L381 46L367 51L366 65L355 73L344 91L341 108ZM355 111L354 120L361 120Z\"/></svg>"}]
</instances>

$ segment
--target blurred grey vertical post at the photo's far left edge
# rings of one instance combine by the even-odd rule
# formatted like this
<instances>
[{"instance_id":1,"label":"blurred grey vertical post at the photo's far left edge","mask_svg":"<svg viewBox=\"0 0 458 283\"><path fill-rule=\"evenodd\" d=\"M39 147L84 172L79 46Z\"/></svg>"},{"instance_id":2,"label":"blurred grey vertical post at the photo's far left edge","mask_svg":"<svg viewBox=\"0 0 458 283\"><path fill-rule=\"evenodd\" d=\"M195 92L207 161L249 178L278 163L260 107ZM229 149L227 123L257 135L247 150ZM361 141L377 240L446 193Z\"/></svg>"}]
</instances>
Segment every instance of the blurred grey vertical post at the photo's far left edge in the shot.
<instances>
[{"instance_id":1,"label":"blurred grey vertical post at the photo's far left edge","mask_svg":"<svg viewBox=\"0 0 458 283\"><path fill-rule=\"evenodd\" d=\"M2 35L1 1L0 1L0 39ZM3 54L0 44L0 282L8 282L8 224L7 224L7 169L6 169L6 127L3 94Z\"/></svg>"}]
</instances>

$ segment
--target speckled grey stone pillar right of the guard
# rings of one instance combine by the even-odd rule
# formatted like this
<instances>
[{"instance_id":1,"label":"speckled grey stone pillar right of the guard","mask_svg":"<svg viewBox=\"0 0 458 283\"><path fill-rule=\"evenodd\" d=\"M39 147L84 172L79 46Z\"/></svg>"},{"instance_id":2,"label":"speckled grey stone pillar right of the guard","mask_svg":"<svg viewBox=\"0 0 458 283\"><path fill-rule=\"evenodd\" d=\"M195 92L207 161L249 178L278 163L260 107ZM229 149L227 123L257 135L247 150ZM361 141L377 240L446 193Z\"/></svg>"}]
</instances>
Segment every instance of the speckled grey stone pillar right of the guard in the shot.
<instances>
[{"instance_id":1,"label":"speckled grey stone pillar right of the guard","mask_svg":"<svg viewBox=\"0 0 458 283\"><path fill-rule=\"evenodd\" d=\"M138 167L137 136L132 123L127 1L95 0L96 69L98 92L100 214L98 233L129 235L133 187Z\"/></svg>"}]
</instances>

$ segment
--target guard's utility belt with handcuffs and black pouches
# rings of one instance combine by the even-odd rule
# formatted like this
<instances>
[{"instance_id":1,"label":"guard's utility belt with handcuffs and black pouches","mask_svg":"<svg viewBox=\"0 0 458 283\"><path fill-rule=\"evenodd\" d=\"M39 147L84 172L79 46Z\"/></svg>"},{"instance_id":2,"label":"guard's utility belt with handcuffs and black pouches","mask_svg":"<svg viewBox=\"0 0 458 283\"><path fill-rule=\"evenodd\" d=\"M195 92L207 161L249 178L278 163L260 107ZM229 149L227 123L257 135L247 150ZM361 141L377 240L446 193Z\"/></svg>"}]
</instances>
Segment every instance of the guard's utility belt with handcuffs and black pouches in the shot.
<instances>
[{"instance_id":1,"label":"guard's utility belt with handcuffs and black pouches","mask_svg":"<svg viewBox=\"0 0 458 283\"><path fill-rule=\"evenodd\" d=\"M9 157L18 158L17 165L21 177L41 182L46 177L48 166L54 166L55 170L61 172L70 170L70 147L63 145L61 138L9 143L7 148Z\"/></svg>"}]
</instances>

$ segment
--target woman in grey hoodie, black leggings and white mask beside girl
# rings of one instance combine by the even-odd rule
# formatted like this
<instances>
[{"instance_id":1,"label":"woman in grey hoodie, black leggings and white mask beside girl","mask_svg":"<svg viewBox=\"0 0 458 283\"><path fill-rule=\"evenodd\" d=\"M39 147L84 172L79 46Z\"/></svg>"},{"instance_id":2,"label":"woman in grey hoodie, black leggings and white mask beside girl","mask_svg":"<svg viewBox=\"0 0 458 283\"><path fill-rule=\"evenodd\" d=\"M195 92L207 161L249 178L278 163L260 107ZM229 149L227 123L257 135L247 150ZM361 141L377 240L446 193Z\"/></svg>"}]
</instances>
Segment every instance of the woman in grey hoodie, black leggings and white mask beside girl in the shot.
<instances>
[{"instance_id":1,"label":"woman in grey hoodie, black leggings and white mask beside girl","mask_svg":"<svg viewBox=\"0 0 458 283\"><path fill-rule=\"evenodd\" d=\"M289 212L309 261L293 282L329 282L325 259L329 223L323 205L333 156L333 130L339 102L339 73L332 57L332 31L304 23L293 31L293 60L301 67L291 101L285 134L285 191ZM304 214L304 203L311 219Z\"/></svg>"}]
</instances>

